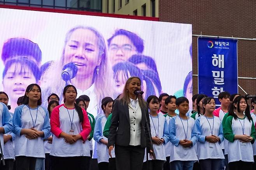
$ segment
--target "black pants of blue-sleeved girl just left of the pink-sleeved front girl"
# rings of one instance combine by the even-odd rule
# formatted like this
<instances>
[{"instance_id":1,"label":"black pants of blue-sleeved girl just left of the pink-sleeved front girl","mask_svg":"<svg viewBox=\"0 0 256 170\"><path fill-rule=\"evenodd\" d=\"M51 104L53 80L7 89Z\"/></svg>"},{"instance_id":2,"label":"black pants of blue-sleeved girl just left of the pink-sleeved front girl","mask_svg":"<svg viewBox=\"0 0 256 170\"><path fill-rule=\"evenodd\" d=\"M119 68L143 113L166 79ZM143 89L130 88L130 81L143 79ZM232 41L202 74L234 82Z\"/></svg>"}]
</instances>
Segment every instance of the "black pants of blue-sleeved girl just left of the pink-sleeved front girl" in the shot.
<instances>
[{"instance_id":1,"label":"black pants of blue-sleeved girl just left of the pink-sleeved front girl","mask_svg":"<svg viewBox=\"0 0 256 170\"><path fill-rule=\"evenodd\" d=\"M15 156L16 170L35 170L36 160L30 156Z\"/></svg>"}]
</instances>

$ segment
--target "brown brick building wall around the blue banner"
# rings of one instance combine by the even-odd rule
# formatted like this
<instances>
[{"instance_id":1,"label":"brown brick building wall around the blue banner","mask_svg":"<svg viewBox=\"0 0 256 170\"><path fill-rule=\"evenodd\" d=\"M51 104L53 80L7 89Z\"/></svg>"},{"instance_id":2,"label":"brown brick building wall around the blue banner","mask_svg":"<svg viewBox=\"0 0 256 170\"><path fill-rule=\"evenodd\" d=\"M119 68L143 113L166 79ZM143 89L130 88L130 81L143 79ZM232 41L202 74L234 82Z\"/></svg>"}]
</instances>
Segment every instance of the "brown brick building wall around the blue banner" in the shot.
<instances>
[{"instance_id":1,"label":"brown brick building wall around the blue banner","mask_svg":"<svg viewBox=\"0 0 256 170\"><path fill-rule=\"evenodd\" d=\"M193 34L256 38L256 3L241 0L159 0L159 20L192 24ZM197 37L193 37L193 74L198 74ZM238 77L256 77L256 41L238 41ZM199 66L202 67L202 66ZM238 79L249 94L256 93L256 80ZM193 77L193 93L198 91ZM244 92L238 88L238 92Z\"/></svg>"}]
</instances>

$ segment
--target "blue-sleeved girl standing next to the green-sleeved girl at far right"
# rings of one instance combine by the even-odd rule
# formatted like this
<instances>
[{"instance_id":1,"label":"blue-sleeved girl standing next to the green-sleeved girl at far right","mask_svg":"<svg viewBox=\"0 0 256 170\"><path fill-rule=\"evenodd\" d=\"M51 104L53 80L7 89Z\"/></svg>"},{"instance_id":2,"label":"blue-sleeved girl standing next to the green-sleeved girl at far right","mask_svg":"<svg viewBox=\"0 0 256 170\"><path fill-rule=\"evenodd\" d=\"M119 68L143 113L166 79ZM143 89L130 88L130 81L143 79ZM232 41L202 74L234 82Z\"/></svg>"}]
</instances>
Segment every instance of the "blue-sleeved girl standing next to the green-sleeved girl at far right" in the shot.
<instances>
[{"instance_id":1,"label":"blue-sleeved girl standing next to the green-sleeved girl at far right","mask_svg":"<svg viewBox=\"0 0 256 170\"><path fill-rule=\"evenodd\" d=\"M215 100L212 97L203 99L203 115L196 118L193 135L197 135L197 157L202 170L218 170L224 155L221 142L224 140L221 120L214 116Z\"/></svg>"}]
</instances>

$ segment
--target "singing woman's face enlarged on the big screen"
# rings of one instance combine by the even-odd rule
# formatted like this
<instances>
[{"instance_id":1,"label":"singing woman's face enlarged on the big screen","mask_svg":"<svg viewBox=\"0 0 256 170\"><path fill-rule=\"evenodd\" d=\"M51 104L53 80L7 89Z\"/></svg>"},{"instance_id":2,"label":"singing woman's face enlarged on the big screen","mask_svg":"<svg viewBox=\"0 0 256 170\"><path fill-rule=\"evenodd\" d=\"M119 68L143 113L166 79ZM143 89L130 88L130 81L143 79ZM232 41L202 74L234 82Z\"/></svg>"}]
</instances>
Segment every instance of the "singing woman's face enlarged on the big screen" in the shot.
<instances>
[{"instance_id":1,"label":"singing woman's face enlarged on the big screen","mask_svg":"<svg viewBox=\"0 0 256 170\"><path fill-rule=\"evenodd\" d=\"M77 68L77 76L93 75L95 67L100 65L97 36L89 29L75 29L65 46L64 65L73 62Z\"/></svg>"}]
</instances>

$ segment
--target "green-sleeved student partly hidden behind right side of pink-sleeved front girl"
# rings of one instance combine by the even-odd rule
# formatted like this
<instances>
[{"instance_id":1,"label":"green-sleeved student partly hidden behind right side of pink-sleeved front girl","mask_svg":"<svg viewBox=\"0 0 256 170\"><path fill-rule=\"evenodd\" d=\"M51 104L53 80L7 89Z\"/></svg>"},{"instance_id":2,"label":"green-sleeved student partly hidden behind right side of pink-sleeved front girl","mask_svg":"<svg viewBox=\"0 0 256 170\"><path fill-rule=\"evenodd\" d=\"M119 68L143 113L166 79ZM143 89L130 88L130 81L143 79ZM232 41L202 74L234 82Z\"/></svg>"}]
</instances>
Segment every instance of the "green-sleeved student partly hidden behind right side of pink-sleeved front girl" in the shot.
<instances>
[{"instance_id":1,"label":"green-sleeved student partly hidden behind right side of pink-sleeved front girl","mask_svg":"<svg viewBox=\"0 0 256 170\"><path fill-rule=\"evenodd\" d=\"M79 97L75 100L75 103L77 103L78 106L80 106L81 108L86 110L87 106L86 106L86 101L84 101L84 99ZM89 102L88 102L88 104L89 104ZM93 132L94 132L94 127L95 127L95 122L96 121L95 121L94 116L91 113L87 112L87 116L89 118L90 125L91 125L91 132L90 132L89 136L87 137L89 143L86 143L86 144L89 144L90 156L88 158L86 158L89 162L87 163L87 165L84 165L84 167L85 167L86 170L90 170L90 168L91 168L91 158L93 156L93 143L92 143L91 139L93 138Z\"/></svg>"}]
</instances>

